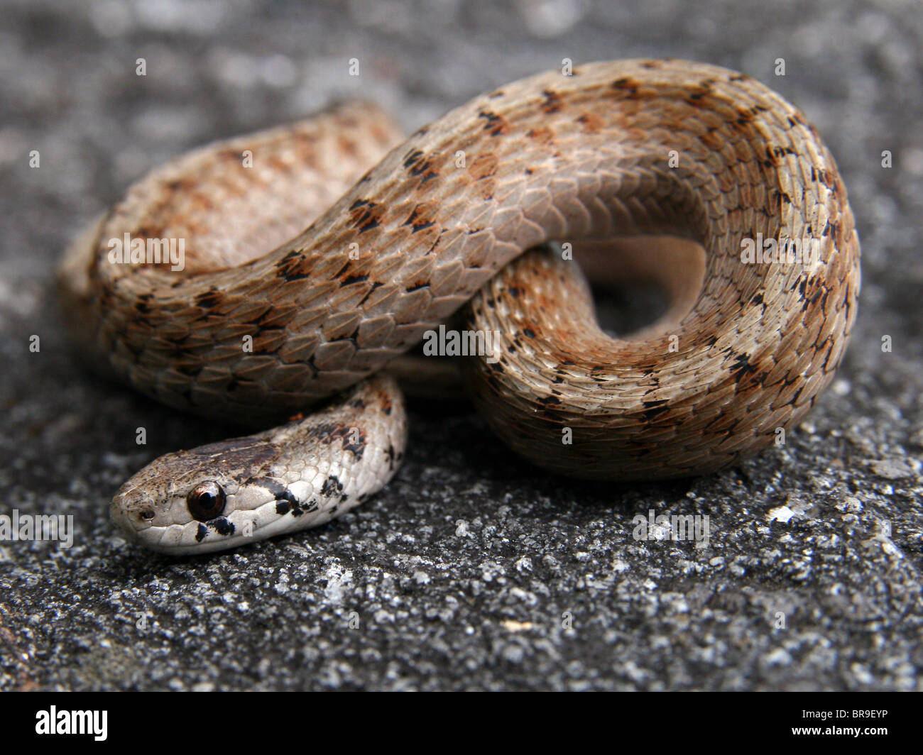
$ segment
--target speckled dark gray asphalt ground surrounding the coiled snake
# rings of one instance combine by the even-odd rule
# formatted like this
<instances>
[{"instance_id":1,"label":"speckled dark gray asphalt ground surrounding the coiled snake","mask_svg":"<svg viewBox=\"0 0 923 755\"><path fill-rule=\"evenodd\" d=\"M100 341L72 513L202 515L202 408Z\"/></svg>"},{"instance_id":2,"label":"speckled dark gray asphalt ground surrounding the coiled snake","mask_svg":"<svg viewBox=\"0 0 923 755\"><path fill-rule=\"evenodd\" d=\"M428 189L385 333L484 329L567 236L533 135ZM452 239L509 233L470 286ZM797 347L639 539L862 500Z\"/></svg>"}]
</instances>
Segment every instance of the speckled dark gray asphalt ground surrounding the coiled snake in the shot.
<instances>
[{"instance_id":1,"label":"speckled dark gray asphalt ground surrounding the coiled snake","mask_svg":"<svg viewBox=\"0 0 923 755\"><path fill-rule=\"evenodd\" d=\"M494 5L4 0L0 513L73 515L75 542L0 543L0 689L923 687L917 0ZM128 475L234 427L78 365L49 283L80 223L182 150L333 99L411 130L565 57L636 56L760 78L844 174L860 314L784 447L585 485L516 459L466 403L417 401L395 480L330 525L185 560L114 533ZM708 546L635 539L652 509L707 515Z\"/></svg>"}]
</instances>

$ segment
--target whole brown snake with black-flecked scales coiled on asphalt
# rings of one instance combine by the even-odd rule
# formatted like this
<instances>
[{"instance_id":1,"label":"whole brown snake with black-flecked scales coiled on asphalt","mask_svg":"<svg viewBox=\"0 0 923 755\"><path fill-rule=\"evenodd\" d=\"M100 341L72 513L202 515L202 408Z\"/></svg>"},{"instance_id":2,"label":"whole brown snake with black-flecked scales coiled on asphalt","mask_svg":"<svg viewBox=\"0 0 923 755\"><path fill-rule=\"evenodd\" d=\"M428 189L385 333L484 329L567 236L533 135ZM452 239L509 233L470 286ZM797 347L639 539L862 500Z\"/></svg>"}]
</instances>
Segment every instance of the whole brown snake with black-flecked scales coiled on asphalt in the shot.
<instances>
[{"instance_id":1,"label":"whole brown snake with black-flecked scales coiled on asphalt","mask_svg":"<svg viewBox=\"0 0 923 755\"><path fill-rule=\"evenodd\" d=\"M665 315L603 330L598 278L658 283ZM91 366L258 431L168 453L115 494L126 539L184 556L387 485L407 440L396 366L426 382L438 360L411 352L437 333L486 425L547 472L733 465L830 382L860 275L805 115L747 75L651 59L524 78L409 138L343 102L192 150L78 234L58 281ZM445 333L471 348L450 358Z\"/></svg>"}]
</instances>

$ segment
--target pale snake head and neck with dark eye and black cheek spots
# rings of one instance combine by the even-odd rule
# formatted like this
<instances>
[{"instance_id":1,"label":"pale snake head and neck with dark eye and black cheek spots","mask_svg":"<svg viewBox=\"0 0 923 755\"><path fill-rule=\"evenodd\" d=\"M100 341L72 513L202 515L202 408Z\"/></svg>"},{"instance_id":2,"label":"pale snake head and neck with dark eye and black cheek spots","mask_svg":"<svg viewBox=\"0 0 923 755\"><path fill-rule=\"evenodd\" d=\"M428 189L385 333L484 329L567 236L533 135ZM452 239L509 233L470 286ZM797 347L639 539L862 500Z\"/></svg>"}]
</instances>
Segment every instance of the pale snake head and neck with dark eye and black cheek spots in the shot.
<instances>
[{"instance_id":1,"label":"pale snake head and neck with dark eye and black cheek spots","mask_svg":"<svg viewBox=\"0 0 923 755\"><path fill-rule=\"evenodd\" d=\"M151 461L110 514L130 542L162 553L246 545L362 503L388 483L406 437L401 391L376 376L307 417Z\"/></svg>"}]
</instances>

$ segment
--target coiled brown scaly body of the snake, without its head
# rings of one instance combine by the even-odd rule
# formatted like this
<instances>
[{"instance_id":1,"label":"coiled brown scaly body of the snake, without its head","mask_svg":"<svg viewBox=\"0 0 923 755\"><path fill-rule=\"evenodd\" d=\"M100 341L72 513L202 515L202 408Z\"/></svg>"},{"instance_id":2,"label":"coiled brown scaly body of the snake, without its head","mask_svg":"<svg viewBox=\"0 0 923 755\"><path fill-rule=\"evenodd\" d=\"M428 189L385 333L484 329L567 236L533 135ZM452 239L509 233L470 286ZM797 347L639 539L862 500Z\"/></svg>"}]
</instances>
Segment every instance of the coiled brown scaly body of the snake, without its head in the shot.
<instances>
[{"instance_id":1,"label":"coiled brown scaly body of the snake, without its head","mask_svg":"<svg viewBox=\"0 0 923 755\"><path fill-rule=\"evenodd\" d=\"M357 104L150 174L66 259L81 342L171 406L265 425L378 371L477 294L470 327L509 346L498 365L469 360L490 424L537 463L608 478L736 461L839 364L859 289L845 188L804 116L754 79L580 66L399 142ZM110 264L105 241L124 233L186 237L186 270ZM641 340L598 329L574 264L521 256L637 234L707 255L689 313ZM757 234L820 239L821 265L742 264Z\"/></svg>"}]
</instances>

